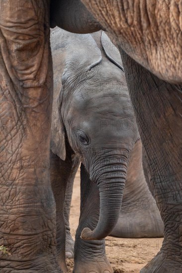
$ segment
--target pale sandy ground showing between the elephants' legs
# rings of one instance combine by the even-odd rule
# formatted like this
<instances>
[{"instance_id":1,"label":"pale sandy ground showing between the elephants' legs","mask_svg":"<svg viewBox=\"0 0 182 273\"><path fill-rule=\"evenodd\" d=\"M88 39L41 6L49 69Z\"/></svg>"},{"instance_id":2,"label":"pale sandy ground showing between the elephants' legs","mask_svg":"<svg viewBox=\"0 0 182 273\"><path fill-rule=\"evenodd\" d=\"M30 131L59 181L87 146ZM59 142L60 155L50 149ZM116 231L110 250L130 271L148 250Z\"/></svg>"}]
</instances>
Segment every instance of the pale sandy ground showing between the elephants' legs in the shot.
<instances>
[{"instance_id":1,"label":"pale sandy ground showing between the elephants' legs","mask_svg":"<svg viewBox=\"0 0 182 273\"><path fill-rule=\"evenodd\" d=\"M71 233L75 238L80 214L80 171L77 172L70 212ZM160 250L163 238L106 238L107 258L114 273L139 273ZM74 262L67 259L72 272Z\"/></svg>"}]
</instances>

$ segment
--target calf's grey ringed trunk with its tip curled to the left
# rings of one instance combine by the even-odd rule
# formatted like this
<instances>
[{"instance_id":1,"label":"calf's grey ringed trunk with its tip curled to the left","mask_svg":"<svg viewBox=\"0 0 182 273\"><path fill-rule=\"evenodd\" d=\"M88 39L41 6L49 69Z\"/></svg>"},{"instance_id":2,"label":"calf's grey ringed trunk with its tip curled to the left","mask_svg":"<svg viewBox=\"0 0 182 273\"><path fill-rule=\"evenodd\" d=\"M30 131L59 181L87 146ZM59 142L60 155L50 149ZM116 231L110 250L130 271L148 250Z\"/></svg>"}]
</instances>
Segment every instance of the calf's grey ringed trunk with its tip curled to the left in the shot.
<instances>
[{"instance_id":1,"label":"calf's grey ringed trunk with its tip curled to the left","mask_svg":"<svg viewBox=\"0 0 182 273\"><path fill-rule=\"evenodd\" d=\"M123 160L122 160L123 161ZM92 180L96 182L100 196L100 214L97 226L91 231L84 228L81 238L84 240L101 240L105 238L117 223L121 210L123 190L126 180L128 159L124 163L112 162L107 167L103 167L99 177Z\"/></svg>"}]
</instances>

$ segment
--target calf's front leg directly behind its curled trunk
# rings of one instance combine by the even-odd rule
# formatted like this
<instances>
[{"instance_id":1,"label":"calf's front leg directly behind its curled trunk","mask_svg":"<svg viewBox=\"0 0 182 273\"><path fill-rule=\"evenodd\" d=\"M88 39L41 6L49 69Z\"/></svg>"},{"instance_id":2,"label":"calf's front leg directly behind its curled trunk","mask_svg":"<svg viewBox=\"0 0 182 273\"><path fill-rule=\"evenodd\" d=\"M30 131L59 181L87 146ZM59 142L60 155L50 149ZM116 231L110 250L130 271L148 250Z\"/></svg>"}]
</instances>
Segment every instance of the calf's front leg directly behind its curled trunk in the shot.
<instances>
[{"instance_id":1,"label":"calf's front leg directly behind its curled trunk","mask_svg":"<svg viewBox=\"0 0 182 273\"><path fill-rule=\"evenodd\" d=\"M99 217L99 191L81 164L81 214L75 237L73 273L113 273L105 255L105 240L82 240L83 228L94 229Z\"/></svg>"}]
</instances>

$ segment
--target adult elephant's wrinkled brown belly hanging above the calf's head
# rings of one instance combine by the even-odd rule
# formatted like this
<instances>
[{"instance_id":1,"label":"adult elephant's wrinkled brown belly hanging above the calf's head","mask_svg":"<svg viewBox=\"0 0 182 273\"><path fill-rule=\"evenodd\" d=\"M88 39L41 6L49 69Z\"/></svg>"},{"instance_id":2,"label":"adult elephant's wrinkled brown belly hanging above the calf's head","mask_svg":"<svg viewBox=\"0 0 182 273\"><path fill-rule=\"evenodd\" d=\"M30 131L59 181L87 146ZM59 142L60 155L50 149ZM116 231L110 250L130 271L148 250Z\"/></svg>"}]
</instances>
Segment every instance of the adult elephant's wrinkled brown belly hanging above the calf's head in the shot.
<instances>
[{"instance_id":1,"label":"adult elephant's wrinkled brown belly hanging above the calf's head","mask_svg":"<svg viewBox=\"0 0 182 273\"><path fill-rule=\"evenodd\" d=\"M137 63L178 84L182 83L181 5L181 0L70 0L69 4L52 0L51 25L78 33L101 27ZM69 24L66 16L71 18Z\"/></svg>"}]
</instances>

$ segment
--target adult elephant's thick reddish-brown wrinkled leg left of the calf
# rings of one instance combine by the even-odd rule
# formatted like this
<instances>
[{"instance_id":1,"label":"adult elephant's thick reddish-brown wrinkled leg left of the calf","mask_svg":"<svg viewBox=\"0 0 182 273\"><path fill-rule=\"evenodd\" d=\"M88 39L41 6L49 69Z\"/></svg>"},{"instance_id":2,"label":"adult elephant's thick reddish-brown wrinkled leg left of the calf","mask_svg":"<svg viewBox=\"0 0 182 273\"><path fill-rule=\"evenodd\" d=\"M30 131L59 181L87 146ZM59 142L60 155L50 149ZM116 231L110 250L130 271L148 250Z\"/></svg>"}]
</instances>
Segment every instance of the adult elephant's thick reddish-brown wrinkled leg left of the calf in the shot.
<instances>
[{"instance_id":1,"label":"adult elephant's thick reddish-brown wrinkled leg left of the calf","mask_svg":"<svg viewBox=\"0 0 182 273\"><path fill-rule=\"evenodd\" d=\"M49 180L52 62L48 1L1 1L1 273L61 272ZM24 1L18 1L24 4ZM3 8L2 8L3 6Z\"/></svg>"}]
</instances>

